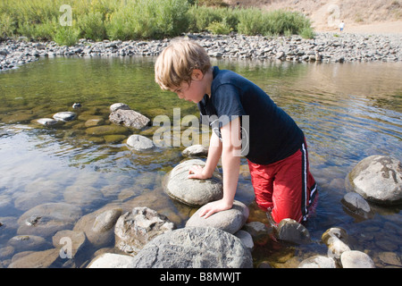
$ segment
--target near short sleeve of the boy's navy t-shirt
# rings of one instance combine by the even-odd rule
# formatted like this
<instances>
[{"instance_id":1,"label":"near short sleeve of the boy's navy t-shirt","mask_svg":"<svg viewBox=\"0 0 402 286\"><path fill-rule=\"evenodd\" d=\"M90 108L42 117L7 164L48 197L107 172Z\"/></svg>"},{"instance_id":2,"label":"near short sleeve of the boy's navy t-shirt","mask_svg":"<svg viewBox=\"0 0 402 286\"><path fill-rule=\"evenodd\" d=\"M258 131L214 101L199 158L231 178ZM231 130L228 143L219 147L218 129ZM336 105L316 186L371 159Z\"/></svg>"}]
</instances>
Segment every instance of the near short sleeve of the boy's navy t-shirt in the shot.
<instances>
[{"instance_id":1,"label":"near short sleeve of the boy's navy t-shirt","mask_svg":"<svg viewBox=\"0 0 402 286\"><path fill-rule=\"evenodd\" d=\"M219 127L239 116L246 115L241 104L239 90L232 84L222 84L214 90L213 105L219 118Z\"/></svg>"}]
</instances>

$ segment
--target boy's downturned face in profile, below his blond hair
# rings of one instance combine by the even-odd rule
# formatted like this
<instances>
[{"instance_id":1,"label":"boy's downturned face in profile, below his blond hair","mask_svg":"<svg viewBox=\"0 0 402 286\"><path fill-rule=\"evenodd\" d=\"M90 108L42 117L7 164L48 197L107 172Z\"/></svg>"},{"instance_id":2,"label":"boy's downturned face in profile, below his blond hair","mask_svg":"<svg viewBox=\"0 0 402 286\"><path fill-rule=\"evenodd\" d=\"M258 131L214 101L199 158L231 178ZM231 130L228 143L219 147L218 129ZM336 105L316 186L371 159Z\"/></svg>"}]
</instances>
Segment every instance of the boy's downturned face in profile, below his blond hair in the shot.
<instances>
[{"instance_id":1,"label":"boy's downturned face in profile, below his blond hair","mask_svg":"<svg viewBox=\"0 0 402 286\"><path fill-rule=\"evenodd\" d=\"M204 73L200 70L194 70L191 74L191 81L183 81L180 87L173 90L180 99L186 99L187 101L192 101L194 103L200 102L205 94L208 93L208 86L206 82L206 77ZM211 88L211 87L209 87Z\"/></svg>"}]
</instances>

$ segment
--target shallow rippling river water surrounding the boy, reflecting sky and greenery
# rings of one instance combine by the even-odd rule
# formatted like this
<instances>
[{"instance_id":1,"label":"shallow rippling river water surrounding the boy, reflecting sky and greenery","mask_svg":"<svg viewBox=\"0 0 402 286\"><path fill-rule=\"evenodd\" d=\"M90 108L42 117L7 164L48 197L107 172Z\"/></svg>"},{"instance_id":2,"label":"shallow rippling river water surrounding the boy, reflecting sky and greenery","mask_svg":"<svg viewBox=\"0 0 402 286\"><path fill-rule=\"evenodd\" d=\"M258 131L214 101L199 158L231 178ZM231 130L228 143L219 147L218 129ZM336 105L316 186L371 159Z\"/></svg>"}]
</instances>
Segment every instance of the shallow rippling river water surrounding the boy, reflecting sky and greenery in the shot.
<instances>
[{"instance_id":1,"label":"shallow rippling river water surrounding the boy, reflecting sky and greenery","mask_svg":"<svg viewBox=\"0 0 402 286\"><path fill-rule=\"evenodd\" d=\"M186 223L195 209L168 198L161 187L166 172L184 159L184 147L138 154L123 141L132 130L119 138L86 132L88 118L109 124L109 106L116 102L151 119L160 114L172 119L177 107L181 117L198 114L196 105L160 90L153 79L154 63L152 57L54 58L0 73L0 249L16 235L13 224L21 214L46 202L69 202L65 193L71 187L102 193L85 198L83 214L134 198L179 227ZM255 81L295 119L305 131L311 170L320 187L316 214L306 224L314 243L290 246L270 238L255 246L255 266L268 261L275 267L294 267L306 257L326 255L321 235L333 226L348 231L350 248L368 253L378 267L392 265L383 258L389 252L400 259L401 206L371 205L373 217L364 220L349 214L340 201L346 194L346 175L364 157L402 159L402 64L214 60L214 65ZM73 111L74 102L82 107L73 122L46 128L32 122ZM140 134L152 138L154 130ZM247 164L245 159L242 164ZM252 203L245 169L236 198L249 206L250 221L265 222L264 213ZM6 267L10 259L0 256L0 265Z\"/></svg>"}]
</instances>

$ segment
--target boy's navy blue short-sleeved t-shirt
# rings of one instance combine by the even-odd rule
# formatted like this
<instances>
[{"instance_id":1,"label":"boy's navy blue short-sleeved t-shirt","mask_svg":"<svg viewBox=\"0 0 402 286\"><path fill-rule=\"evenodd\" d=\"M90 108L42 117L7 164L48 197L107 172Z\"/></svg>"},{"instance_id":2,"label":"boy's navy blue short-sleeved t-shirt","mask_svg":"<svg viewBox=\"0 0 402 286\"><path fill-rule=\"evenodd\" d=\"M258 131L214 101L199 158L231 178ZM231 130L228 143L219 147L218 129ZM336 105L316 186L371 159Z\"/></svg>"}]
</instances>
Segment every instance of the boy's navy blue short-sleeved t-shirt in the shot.
<instances>
[{"instance_id":1,"label":"boy's navy blue short-sleeved t-shirt","mask_svg":"<svg viewBox=\"0 0 402 286\"><path fill-rule=\"evenodd\" d=\"M304 142L296 122L263 89L234 71L214 67L211 97L205 95L198 108L201 121L207 121L220 138L220 128L241 117L243 155L255 164L280 161Z\"/></svg>"}]
</instances>

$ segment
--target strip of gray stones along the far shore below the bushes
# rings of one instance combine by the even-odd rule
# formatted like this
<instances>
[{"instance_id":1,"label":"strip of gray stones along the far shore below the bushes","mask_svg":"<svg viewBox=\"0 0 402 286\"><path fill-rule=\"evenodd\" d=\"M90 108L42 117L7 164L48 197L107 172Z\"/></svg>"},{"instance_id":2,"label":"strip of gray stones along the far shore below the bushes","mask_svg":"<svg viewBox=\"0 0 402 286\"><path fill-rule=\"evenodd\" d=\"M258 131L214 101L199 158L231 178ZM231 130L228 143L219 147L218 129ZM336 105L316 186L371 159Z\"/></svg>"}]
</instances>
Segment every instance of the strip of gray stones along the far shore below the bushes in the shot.
<instances>
[{"instance_id":1,"label":"strip of gray stones along the far shore below the bushes","mask_svg":"<svg viewBox=\"0 0 402 286\"><path fill-rule=\"evenodd\" d=\"M395 34L317 33L312 39L299 36L268 38L232 34L188 34L212 57L249 58L291 62L399 62L402 36ZM80 39L75 46L58 46L53 41L30 42L27 38L0 43L0 71L13 69L40 57L54 56L155 56L171 39L94 42Z\"/></svg>"}]
</instances>

